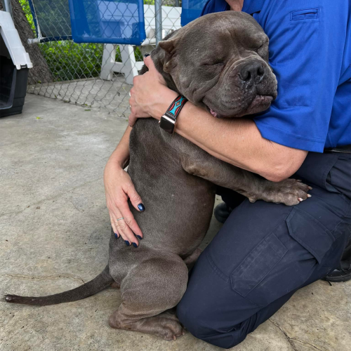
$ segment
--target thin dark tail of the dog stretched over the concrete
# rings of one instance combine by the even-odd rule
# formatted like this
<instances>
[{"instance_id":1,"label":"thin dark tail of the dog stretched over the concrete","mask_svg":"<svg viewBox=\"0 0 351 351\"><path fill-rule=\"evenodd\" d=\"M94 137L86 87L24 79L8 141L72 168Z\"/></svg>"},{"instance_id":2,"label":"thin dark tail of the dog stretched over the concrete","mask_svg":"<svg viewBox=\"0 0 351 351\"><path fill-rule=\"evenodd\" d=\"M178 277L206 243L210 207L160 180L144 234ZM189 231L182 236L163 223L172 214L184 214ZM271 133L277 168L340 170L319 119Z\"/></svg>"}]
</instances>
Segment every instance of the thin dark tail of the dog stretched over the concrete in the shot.
<instances>
[{"instance_id":1,"label":"thin dark tail of the dog stretched over the concrete","mask_svg":"<svg viewBox=\"0 0 351 351\"><path fill-rule=\"evenodd\" d=\"M95 277L90 282L87 282L75 289L64 291L63 293L55 293L55 295L49 296L18 296L18 295L5 295L4 301L6 303L21 303L23 305L35 305L35 306L46 306L46 305L57 305L58 303L69 303L72 301L81 300L88 296L94 295L99 291L107 288L114 282L114 279L110 276L109 266L107 265L98 277Z\"/></svg>"}]
</instances>

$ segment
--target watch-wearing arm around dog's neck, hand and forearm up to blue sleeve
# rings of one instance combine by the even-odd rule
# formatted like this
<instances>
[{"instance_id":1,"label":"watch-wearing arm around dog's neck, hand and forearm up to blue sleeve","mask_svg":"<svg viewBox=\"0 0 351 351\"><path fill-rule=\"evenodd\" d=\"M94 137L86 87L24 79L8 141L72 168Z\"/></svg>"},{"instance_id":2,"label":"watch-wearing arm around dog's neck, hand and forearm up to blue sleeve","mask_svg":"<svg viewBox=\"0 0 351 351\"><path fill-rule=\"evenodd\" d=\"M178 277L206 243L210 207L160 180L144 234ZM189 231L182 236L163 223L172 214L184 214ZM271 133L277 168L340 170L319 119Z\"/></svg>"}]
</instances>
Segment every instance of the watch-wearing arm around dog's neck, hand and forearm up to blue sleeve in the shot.
<instances>
[{"instance_id":1,"label":"watch-wearing arm around dog's neck, hand and forearm up to blue sleeve","mask_svg":"<svg viewBox=\"0 0 351 351\"><path fill-rule=\"evenodd\" d=\"M177 97L176 92L167 88L150 56L144 61L149 72L135 77L131 89L131 126L137 117L160 119ZM251 119L216 119L190 102L178 116L176 133L214 157L274 182L293 175L307 156L307 151L263 138Z\"/></svg>"}]
</instances>

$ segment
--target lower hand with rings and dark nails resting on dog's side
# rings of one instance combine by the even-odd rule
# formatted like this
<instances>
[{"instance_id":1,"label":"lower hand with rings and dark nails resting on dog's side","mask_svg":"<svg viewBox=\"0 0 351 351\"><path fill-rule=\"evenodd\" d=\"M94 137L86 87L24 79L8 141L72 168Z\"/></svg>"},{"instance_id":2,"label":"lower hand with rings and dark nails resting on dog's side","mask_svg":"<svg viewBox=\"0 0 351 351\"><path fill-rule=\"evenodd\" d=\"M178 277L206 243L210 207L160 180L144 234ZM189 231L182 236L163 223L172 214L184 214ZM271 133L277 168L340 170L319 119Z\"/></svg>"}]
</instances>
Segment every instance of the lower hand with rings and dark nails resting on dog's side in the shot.
<instances>
[{"instance_id":1,"label":"lower hand with rings and dark nails resting on dog's side","mask_svg":"<svg viewBox=\"0 0 351 351\"><path fill-rule=\"evenodd\" d=\"M138 247L139 241L135 236L143 239L143 233L131 213L128 198L138 211L144 211L145 207L135 190L131 177L118 162L110 160L107 161L105 167L104 184L106 204L110 212L114 234L117 237L121 236L128 246L132 244Z\"/></svg>"}]
</instances>

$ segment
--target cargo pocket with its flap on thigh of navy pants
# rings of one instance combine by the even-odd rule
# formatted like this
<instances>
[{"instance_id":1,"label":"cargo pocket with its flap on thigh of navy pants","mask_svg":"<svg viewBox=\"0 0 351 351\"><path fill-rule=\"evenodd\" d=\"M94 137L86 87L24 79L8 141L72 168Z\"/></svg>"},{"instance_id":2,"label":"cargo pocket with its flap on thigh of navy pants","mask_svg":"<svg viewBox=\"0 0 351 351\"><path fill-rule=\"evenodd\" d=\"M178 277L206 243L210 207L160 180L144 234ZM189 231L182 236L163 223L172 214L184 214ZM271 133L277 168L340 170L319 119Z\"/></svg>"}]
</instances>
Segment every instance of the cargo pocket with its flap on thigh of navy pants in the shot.
<instances>
[{"instance_id":1,"label":"cargo pocket with its flap on thigh of navy pants","mask_svg":"<svg viewBox=\"0 0 351 351\"><path fill-rule=\"evenodd\" d=\"M279 238L284 238L284 244ZM334 241L319 220L294 207L284 223L232 272L232 289L254 305L265 307L304 286Z\"/></svg>"}]
</instances>

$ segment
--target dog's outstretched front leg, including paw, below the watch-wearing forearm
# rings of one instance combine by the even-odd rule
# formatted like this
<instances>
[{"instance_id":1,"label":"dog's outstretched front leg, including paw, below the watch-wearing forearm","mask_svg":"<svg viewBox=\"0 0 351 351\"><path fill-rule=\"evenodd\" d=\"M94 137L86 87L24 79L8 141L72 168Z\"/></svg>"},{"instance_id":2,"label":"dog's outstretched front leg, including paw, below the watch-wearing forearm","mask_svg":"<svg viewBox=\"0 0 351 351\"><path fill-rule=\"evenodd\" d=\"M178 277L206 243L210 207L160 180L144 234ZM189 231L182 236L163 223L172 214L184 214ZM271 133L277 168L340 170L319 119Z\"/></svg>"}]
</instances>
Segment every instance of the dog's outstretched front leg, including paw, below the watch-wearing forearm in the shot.
<instances>
[{"instance_id":1,"label":"dog's outstretched front leg, including paw, below the watch-wearing forearm","mask_svg":"<svg viewBox=\"0 0 351 351\"><path fill-rule=\"evenodd\" d=\"M239 192L251 202L265 200L293 206L310 197L307 192L312 189L290 178L279 183L271 182L255 173L216 159L199 147L196 151L183 154L181 162L187 173Z\"/></svg>"}]
</instances>

